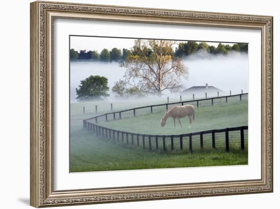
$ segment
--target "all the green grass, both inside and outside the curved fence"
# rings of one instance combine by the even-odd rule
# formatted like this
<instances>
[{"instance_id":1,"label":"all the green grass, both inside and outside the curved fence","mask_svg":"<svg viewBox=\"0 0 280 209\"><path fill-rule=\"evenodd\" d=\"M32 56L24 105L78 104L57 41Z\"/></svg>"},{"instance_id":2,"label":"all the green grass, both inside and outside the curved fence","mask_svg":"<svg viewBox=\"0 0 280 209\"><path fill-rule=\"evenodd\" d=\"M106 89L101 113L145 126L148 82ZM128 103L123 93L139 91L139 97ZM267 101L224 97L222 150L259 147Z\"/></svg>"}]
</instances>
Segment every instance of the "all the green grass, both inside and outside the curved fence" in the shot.
<instances>
[{"instance_id":1,"label":"all the green grass, both inside and outside the curved fence","mask_svg":"<svg viewBox=\"0 0 280 209\"><path fill-rule=\"evenodd\" d=\"M145 100L119 101L113 103L113 110L129 109L137 106L158 104L162 101ZM188 147L183 151L148 151L141 147L122 144L113 140L96 137L91 131L82 128L82 120L94 116L95 105L98 105L98 114L110 111L109 102L87 102L71 104L70 122L70 172L151 169L172 167L197 167L219 165L247 164L247 143L245 151L240 151L235 134L230 135L231 152L226 153L222 143L217 143L217 149L205 148L200 151L197 140L193 139L194 152L188 153ZM82 107L86 107L86 114L82 114ZM122 131L146 134L182 134L210 129L247 125L247 97L217 99L211 106L211 100L200 103L195 110L196 117L193 127L188 129L188 120L181 120L183 128L177 122L174 128L173 120L167 120L165 127L160 126L160 118L165 112L164 107L158 107L150 114L150 109L137 110L136 117L127 112L122 120L100 122L103 126ZM247 135L246 135L247 139ZM206 143L207 144L207 137ZM175 143L175 146L178 144ZM210 147L210 146L209 146ZM221 147L221 148L219 148Z\"/></svg>"}]
</instances>

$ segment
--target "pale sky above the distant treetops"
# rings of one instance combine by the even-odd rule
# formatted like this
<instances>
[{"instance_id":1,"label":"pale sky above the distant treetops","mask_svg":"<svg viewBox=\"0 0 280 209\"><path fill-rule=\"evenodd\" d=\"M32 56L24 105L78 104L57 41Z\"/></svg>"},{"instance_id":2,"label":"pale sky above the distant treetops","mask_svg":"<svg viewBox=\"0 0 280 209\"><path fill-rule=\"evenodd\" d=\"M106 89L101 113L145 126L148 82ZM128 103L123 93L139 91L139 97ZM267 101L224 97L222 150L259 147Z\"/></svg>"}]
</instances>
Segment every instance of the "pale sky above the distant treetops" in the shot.
<instances>
[{"instance_id":1,"label":"pale sky above the distant treetops","mask_svg":"<svg viewBox=\"0 0 280 209\"><path fill-rule=\"evenodd\" d=\"M71 36L70 37L70 49L79 50L97 50L98 53L102 49L106 48L108 50L113 49L114 47L118 49L127 48L130 49L134 45L136 39L127 39L127 38L103 38L103 37L81 37L81 36ZM184 42L184 41L178 41ZM198 42L200 43L200 42ZM206 42L210 46L217 46L219 42ZM233 45L234 43L224 43ZM177 46L175 46L177 47Z\"/></svg>"}]
</instances>

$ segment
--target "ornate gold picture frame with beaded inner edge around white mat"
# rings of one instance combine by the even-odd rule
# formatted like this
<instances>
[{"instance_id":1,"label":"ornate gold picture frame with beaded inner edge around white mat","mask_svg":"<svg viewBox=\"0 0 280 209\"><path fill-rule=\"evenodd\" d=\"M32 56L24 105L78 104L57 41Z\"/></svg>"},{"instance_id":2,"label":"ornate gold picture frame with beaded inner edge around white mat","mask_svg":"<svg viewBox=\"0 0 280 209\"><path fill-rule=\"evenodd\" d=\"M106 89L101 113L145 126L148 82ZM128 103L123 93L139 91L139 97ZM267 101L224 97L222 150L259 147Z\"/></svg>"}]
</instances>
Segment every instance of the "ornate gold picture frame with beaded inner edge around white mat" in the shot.
<instances>
[{"instance_id":1,"label":"ornate gold picture frame with beaded inner edge around white mat","mask_svg":"<svg viewBox=\"0 0 280 209\"><path fill-rule=\"evenodd\" d=\"M56 19L255 29L261 32L261 178L54 190ZM55 2L31 3L31 205L109 203L273 191L273 17ZM68 61L65 61L68 62Z\"/></svg>"}]
</instances>

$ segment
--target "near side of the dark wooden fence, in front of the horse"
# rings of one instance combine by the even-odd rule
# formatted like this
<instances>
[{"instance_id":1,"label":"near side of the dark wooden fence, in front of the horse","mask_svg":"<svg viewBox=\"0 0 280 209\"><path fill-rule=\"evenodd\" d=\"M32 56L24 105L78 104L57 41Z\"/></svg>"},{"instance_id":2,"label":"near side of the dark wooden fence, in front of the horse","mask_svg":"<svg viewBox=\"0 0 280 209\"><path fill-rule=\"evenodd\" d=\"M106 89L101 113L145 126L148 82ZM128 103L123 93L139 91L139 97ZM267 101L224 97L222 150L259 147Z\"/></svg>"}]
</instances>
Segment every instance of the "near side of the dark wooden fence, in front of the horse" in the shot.
<instances>
[{"instance_id":1,"label":"near side of the dark wooden fence, in front of the horse","mask_svg":"<svg viewBox=\"0 0 280 209\"><path fill-rule=\"evenodd\" d=\"M132 133L126 131L119 131L115 129L109 129L103 126L99 126L97 124L93 124L87 121L83 121L83 127L88 129L89 131L93 131L94 134L98 137L106 138L106 139L113 139L118 142L142 146L144 149L148 148L150 151L152 150L167 150L166 144L168 143L170 146L170 150L183 150L183 147L187 145L188 150L192 153L192 144L193 142L197 143L199 141L200 148L204 148L204 136L211 135L211 142L212 148L216 148L216 134L222 133L224 134L223 137L219 137L219 143L224 140L225 150L226 152L230 151L230 137L229 134L231 132L238 131L239 136L235 136L235 141L240 140L240 149L244 150L245 148L245 137L244 131L248 130L248 126L240 126L234 128L225 128L225 129L214 129L214 130L207 130L207 131L200 131L194 133L187 133L187 134L178 134L178 135L154 135L154 134L140 134L140 133ZM195 137L198 136L198 137ZM193 140L195 137L196 140ZM199 138L199 140L198 140ZM175 140L177 140L178 147L175 148ZM209 141L209 140L207 140ZM161 146L159 147L159 143ZM188 143L188 144L186 144Z\"/></svg>"}]
</instances>

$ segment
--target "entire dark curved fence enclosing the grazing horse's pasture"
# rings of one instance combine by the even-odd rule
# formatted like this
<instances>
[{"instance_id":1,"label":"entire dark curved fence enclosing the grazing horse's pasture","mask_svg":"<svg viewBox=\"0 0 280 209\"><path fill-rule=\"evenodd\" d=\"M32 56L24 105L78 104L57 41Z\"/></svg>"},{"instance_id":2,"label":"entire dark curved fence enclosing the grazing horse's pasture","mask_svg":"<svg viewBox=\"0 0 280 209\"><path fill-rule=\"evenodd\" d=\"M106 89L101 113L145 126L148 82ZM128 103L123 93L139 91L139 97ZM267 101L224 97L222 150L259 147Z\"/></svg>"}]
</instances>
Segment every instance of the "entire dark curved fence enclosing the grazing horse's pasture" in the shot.
<instances>
[{"instance_id":1,"label":"entire dark curved fence enclosing the grazing horse's pasture","mask_svg":"<svg viewBox=\"0 0 280 209\"><path fill-rule=\"evenodd\" d=\"M248 126L225 128L219 130L214 129L178 135L155 135L120 131L106 128L98 124L100 120L105 122L108 122L109 120L121 120L122 114L125 112L128 112L129 114L133 112L133 116L135 117L136 110L138 109L149 108L150 113L153 113L153 108L157 106L166 106L167 110L170 105L184 105L185 103L190 102L197 102L197 107L199 107L200 101L211 100L211 103L213 105L213 101L215 99L225 98L227 102L229 97L239 97L241 101L243 95L247 95L247 93L232 96L222 96L208 99L135 107L121 111L109 112L88 118L87 120L83 120L83 127L87 130L93 131L93 133L98 137L112 139L133 146L143 147L144 149L147 148L150 151L187 150L192 153L193 150L198 148L202 150L204 147L224 148L226 152L229 152L231 148L240 148L241 150L244 150L245 146L247 145Z\"/></svg>"}]
</instances>

